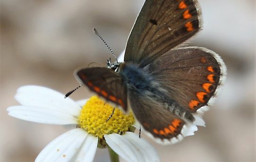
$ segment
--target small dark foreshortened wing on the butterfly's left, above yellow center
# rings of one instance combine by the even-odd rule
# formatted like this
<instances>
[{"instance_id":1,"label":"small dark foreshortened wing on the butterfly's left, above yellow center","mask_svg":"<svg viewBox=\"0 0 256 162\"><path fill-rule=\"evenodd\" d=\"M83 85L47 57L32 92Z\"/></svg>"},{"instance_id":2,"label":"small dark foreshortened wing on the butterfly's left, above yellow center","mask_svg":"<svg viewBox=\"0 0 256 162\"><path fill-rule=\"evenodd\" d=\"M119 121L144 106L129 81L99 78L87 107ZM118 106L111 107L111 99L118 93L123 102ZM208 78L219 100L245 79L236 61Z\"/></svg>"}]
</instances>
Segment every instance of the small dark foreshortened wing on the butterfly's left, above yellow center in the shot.
<instances>
[{"instance_id":1,"label":"small dark foreshortened wing on the butterfly's left, above yellow center","mask_svg":"<svg viewBox=\"0 0 256 162\"><path fill-rule=\"evenodd\" d=\"M75 75L91 91L127 111L127 85L118 73L109 68L83 68Z\"/></svg>"}]
</instances>

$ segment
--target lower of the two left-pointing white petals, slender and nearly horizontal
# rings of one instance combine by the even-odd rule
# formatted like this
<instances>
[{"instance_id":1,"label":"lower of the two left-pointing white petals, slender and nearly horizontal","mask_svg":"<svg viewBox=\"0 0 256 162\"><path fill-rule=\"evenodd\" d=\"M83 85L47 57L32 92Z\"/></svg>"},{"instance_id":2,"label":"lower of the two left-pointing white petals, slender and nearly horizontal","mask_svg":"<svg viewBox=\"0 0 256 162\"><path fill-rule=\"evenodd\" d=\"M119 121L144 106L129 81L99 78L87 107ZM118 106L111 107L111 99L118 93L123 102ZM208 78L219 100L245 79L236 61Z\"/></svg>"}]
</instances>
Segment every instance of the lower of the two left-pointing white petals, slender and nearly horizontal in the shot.
<instances>
[{"instance_id":1,"label":"lower of the two left-pointing white petals, slender and nearly horizontal","mask_svg":"<svg viewBox=\"0 0 256 162\"><path fill-rule=\"evenodd\" d=\"M75 117L47 108L11 106L7 111L9 111L8 115L12 117L37 123L60 125L77 124L77 119Z\"/></svg>"}]
</instances>

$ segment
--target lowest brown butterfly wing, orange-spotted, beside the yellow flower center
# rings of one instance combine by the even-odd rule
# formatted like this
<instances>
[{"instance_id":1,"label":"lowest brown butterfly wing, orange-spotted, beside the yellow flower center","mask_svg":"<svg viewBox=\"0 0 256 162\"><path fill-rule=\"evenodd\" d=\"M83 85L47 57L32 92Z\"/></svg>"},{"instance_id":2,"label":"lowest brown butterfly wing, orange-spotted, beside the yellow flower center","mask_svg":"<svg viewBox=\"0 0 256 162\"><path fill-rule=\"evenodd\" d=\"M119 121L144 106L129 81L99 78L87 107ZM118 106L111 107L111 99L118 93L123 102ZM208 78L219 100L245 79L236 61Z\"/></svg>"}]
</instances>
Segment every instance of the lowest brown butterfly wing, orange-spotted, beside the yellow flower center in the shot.
<instances>
[{"instance_id":1,"label":"lowest brown butterfly wing, orange-spotted, beside the yellow flower center","mask_svg":"<svg viewBox=\"0 0 256 162\"><path fill-rule=\"evenodd\" d=\"M197 127L168 111L154 94L138 94L128 91L128 103L141 126L150 137L160 144L174 144L185 136L191 136Z\"/></svg>"}]
</instances>

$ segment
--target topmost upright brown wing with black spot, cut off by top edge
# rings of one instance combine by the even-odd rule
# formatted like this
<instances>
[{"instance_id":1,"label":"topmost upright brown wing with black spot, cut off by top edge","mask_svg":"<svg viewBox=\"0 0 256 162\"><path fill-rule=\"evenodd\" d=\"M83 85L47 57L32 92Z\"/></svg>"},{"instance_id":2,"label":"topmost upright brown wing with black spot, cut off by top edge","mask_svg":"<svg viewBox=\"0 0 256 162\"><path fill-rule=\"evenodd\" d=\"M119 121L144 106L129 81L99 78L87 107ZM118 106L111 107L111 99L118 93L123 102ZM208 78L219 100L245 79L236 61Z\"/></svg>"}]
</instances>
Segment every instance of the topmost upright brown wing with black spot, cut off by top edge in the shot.
<instances>
[{"instance_id":1,"label":"topmost upright brown wing with black spot, cut off by top edge","mask_svg":"<svg viewBox=\"0 0 256 162\"><path fill-rule=\"evenodd\" d=\"M199 29L196 0L146 0L129 36L125 61L142 68Z\"/></svg>"}]
</instances>

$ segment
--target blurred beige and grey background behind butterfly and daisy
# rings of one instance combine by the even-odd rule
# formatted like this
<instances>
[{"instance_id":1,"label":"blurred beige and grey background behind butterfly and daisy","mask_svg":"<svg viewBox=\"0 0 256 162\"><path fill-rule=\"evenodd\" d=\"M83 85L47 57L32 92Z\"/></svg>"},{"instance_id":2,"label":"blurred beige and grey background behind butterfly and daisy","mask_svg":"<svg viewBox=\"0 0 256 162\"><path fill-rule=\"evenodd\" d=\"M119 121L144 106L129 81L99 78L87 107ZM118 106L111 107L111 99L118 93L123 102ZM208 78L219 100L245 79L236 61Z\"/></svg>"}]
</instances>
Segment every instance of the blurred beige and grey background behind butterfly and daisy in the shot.
<instances>
[{"instance_id":1,"label":"blurred beige and grey background behind butterfly and daisy","mask_svg":"<svg viewBox=\"0 0 256 162\"><path fill-rule=\"evenodd\" d=\"M204 29L189 45L219 53L228 76L222 93L199 128L175 145L154 141L162 162L255 162L256 4L255 0L199 0ZM33 162L52 139L67 131L9 117L22 85L42 85L63 94L78 83L73 71L90 62L105 64L119 55L144 0L0 1L0 162ZM71 95L91 96L85 88ZM143 137L147 138L144 134ZM148 138L147 138L148 139ZM95 162L108 162L98 149Z\"/></svg>"}]
</instances>

